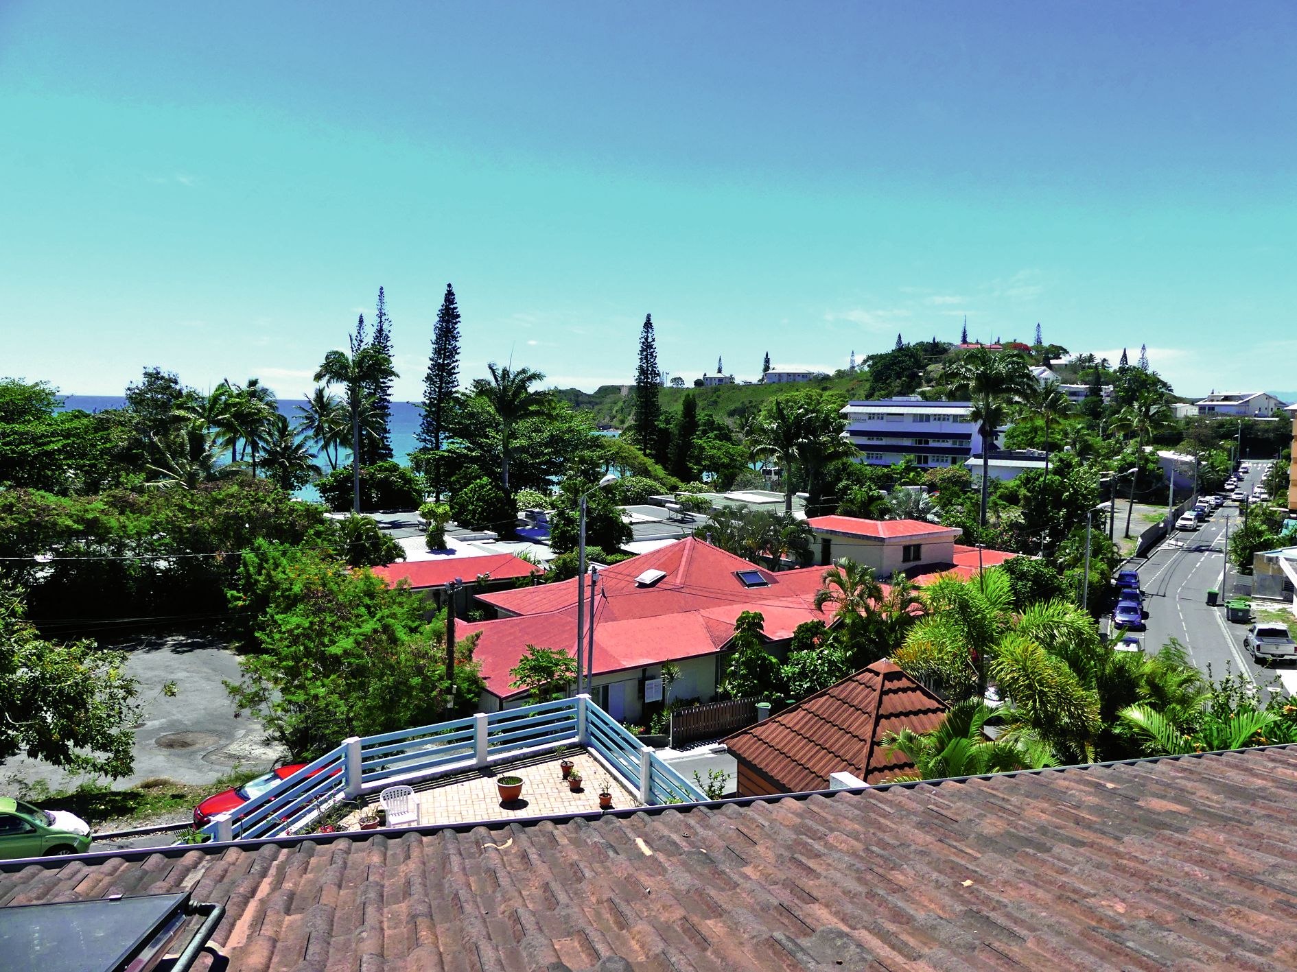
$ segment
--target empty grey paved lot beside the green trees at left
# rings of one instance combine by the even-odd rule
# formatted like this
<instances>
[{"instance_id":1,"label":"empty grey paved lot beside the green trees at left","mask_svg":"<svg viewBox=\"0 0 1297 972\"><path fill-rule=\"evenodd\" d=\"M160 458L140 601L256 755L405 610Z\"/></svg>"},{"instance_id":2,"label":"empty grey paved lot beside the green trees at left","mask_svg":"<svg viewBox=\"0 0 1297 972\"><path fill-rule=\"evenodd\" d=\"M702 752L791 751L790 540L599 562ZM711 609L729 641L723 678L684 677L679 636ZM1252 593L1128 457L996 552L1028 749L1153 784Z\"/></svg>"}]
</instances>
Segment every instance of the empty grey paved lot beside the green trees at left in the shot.
<instances>
[{"instance_id":1,"label":"empty grey paved lot beside the green trees at left","mask_svg":"<svg viewBox=\"0 0 1297 972\"><path fill-rule=\"evenodd\" d=\"M280 756L265 741L261 723L236 717L222 682L239 680L239 658L224 642L198 634L156 635L119 645L127 671L140 680L145 712L135 731L135 771L114 785L154 776L206 784L233 766L270 769ZM175 697L161 689L175 682ZM44 780L53 791L75 787L78 778L23 757L0 763L0 791L9 781Z\"/></svg>"}]
</instances>

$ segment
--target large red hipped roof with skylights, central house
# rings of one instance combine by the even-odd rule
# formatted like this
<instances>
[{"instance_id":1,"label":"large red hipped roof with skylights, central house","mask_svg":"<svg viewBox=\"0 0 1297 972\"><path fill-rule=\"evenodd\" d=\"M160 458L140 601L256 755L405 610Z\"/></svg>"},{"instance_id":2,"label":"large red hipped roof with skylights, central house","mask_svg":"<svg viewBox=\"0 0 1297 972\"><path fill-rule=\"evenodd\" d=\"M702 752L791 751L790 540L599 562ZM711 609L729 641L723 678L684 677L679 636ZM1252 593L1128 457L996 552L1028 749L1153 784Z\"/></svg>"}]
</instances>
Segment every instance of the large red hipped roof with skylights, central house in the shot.
<instances>
[{"instance_id":1,"label":"large red hipped roof with skylights, central house","mask_svg":"<svg viewBox=\"0 0 1297 972\"><path fill-rule=\"evenodd\" d=\"M754 569L765 586L747 587L735 577ZM651 586L636 583L646 570L667 575ZM711 654L729 642L744 610L761 612L770 640L791 638L803 621L827 621L813 603L822 574L824 568L772 573L693 537L615 564L599 572L595 673ZM575 652L576 578L479 599L515 614L458 629L462 636L477 635L473 658L493 695L519 695L508 673L528 644Z\"/></svg>"}]
</instances>

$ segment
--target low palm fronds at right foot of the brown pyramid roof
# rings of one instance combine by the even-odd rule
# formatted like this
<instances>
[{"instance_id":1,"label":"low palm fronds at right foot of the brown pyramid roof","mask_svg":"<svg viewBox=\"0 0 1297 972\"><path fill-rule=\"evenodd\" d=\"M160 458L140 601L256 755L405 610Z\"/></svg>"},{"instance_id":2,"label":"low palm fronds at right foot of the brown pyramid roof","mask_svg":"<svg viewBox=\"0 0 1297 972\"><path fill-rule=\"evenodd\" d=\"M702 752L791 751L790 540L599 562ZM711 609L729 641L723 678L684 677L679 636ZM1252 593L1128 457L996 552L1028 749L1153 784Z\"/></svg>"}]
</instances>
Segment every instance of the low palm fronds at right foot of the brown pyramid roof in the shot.
<instances>
[{"instance_id":1,"label":"low palm fronds at right foot of the brown pyramid roof","mask_svg":"<svg viewBox=\"0 0 1297 972\"><path fill-rule=\"evenodd\" d=\"M887 783L936 780L958 776L984 776L990 772L1039 770L1056 762L1044 746L1026 740L991 739L986 723L999 713L981 699L956 702L942 718L942 724L920 735L904 728L883 736L883 745L899 750L914 763L913 775L896 776Z\"/></svg>"}]
</instances>

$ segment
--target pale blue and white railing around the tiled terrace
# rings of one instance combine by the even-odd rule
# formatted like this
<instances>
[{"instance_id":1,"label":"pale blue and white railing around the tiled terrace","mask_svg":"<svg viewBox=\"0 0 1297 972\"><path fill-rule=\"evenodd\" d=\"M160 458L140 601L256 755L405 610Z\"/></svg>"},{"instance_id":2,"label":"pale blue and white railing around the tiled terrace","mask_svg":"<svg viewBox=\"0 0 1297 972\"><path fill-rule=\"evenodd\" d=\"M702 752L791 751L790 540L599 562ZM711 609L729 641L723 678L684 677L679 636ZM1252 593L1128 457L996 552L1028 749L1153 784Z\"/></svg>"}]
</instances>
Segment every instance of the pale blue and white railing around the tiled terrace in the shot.
<instances>
[{"instance_id":1,"label":"pale blue and white railing around the tiled terrace","mask_svg":"<svg viewBox=\"0 0 1297 972\"><path fill-rule=\"evenodd\" d=\"M477 713L432 726L351 737L256 800L202 828L214 840L280 837L344 800L558 749L584 746L646 805L704 800L589 696Z\"/></svg>"}]
</instances>

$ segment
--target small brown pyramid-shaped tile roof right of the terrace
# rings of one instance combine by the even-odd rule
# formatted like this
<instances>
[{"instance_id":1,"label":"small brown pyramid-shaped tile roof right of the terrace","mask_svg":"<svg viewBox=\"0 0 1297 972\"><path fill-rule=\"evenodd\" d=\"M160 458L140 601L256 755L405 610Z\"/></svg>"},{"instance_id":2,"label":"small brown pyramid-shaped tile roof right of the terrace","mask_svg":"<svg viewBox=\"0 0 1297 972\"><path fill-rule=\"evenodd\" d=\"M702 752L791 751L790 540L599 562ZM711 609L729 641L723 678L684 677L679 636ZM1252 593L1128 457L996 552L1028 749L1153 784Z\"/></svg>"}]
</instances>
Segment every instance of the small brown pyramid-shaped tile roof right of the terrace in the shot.
<instances>
[{"instance_id":1,"label":"small brown pyramid-shaped tile roof right of the terrace","mask_svg":"<svg viewBox=\"0 0 1297 972\"><path fill-rule=\"evenodd\" d=\"M944 712L935 695L883 660L735 732L725 745L785 793L824 789L830 772L883 783L914 769L882 745L883 736L927 732Z\"/></svg>"}]
</instances>

